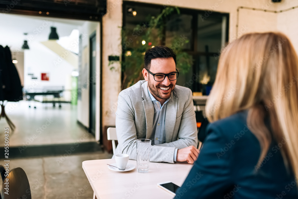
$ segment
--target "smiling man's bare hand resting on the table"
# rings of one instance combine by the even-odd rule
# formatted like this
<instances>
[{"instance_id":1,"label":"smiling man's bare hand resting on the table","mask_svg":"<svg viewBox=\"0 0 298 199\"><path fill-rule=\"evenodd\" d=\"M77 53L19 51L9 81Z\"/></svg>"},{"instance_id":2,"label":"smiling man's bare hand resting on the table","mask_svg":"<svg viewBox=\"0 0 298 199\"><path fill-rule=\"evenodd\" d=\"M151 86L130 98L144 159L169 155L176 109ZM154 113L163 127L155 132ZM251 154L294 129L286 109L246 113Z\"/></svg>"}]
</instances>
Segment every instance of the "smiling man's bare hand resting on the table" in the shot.
<instances>
[{"instance_id":1,"label":"smiling man's bare hand resting on the table","mask_svg":"<svg viewBox=\"0 0 298 199\"><path fill-rule=\"evenodd\" d=\"M188 163L193 164L197 160L199 153L200 151L194 146L178 149L176 161L177 162L187 161Z\"/></svg>"}]
</instances>

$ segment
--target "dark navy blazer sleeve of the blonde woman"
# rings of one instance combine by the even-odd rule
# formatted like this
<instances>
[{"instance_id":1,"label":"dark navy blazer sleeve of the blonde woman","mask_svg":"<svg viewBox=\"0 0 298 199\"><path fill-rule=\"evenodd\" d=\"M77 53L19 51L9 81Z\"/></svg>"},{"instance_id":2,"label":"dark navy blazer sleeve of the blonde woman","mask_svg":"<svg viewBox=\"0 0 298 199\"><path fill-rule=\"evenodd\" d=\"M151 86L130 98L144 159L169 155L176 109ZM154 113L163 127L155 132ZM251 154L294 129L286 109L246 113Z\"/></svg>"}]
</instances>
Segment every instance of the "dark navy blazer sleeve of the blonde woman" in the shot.
<instances>
[{"instance_id":1,"label":"dark navy blazer sleeve of the blonde woman","mask_svg":"<svg viewBox=\"0 0 298 199\"><path fill-rule=\"evenodd\" d=\"M232 149L223 150L226 143L229 142L220 129L210 124L198 160L177 190L176 199L223 198L227 190L234 186L231 172Z\"/></svg>"}]
</instances>

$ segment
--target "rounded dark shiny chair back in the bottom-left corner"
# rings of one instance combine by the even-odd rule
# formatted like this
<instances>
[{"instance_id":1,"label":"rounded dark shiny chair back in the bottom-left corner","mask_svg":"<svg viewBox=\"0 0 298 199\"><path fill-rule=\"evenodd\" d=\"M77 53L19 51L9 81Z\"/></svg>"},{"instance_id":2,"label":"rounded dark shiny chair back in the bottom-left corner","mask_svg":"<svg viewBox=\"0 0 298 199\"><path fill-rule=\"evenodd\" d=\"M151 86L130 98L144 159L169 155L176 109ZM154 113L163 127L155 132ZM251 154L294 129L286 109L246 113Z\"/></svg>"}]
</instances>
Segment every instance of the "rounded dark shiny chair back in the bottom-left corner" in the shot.
<instances>
[{"instance_id":1,"label":"rounded dark shiny chair back in the bottom-left corner","mask_svg":"<svg viewBox=\"0 0 298 199\"><path fill-rule=\"evenodd\" d=\"M4 194L6 191L4 182L8 178L9 182L9 195ZM1 198L2 199L16 199L16 198L26 198L31 199L31 189L25 171L17 167L8 173L5 177L2 188L1 188Z\"/></svg>"}]
</instances>

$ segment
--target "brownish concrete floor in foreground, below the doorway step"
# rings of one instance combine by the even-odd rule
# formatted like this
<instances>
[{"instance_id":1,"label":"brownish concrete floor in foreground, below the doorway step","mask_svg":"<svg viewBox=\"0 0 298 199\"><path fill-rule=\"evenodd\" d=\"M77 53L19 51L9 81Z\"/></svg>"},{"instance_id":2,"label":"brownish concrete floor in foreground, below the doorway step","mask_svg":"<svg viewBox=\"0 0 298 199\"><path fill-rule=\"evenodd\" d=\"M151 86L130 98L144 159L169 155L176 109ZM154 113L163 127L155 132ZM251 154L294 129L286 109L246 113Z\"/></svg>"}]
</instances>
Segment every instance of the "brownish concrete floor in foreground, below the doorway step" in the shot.
<instances>
[{"instance_id":1,"label":"brownish concrete floor in foreground, below the doorway step","mask_svg":"<svg viewBox=\"0 0 298 199\"><path fill-rule=\"evenodd\" d=\"M21 167L27 174L32 199L93 198L93 190L83 171L85 160L107 159L108 153L71 155L62 163L61 156L10 160L9 170ZM6 162L0 160L0 164Z\"/></svg>"}]
</instances>

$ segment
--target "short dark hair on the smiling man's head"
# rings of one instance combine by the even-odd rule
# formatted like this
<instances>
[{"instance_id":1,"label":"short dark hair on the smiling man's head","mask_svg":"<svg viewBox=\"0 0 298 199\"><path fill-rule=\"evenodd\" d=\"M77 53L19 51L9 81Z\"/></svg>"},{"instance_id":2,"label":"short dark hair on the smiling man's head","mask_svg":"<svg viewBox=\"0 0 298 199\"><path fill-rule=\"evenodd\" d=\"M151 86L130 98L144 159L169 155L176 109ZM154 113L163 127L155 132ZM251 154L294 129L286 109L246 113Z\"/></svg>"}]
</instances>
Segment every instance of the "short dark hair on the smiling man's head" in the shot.
<instances>
[{"instance_id":1,"label":"short dark hair on the smiling man's head","mask_svg":"<svg viewBox=\"0 0 298 199\"><path fill-rule=\"evenodd\" d=\"M144 57L144 68L150 70L151 60L156 58L170 58L173 57L176 65L176 54L167 46L155 46L146 51Z\"/></svg>"}]
</instances>

